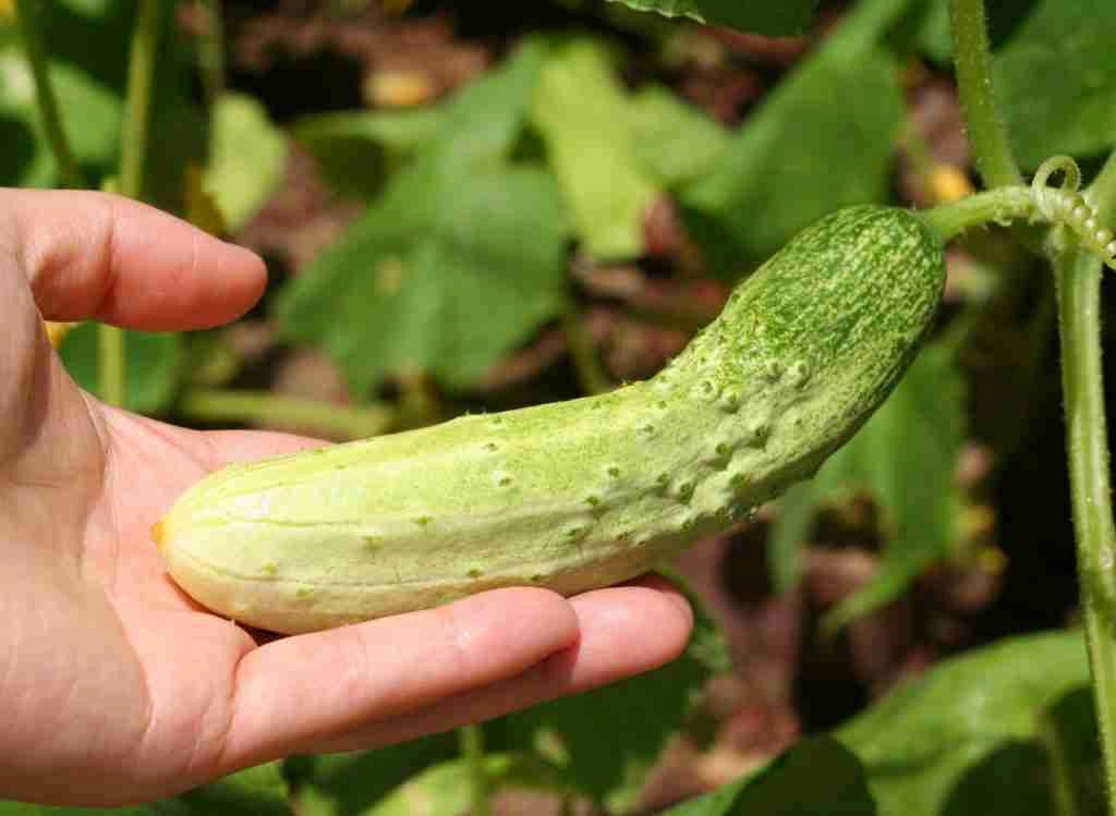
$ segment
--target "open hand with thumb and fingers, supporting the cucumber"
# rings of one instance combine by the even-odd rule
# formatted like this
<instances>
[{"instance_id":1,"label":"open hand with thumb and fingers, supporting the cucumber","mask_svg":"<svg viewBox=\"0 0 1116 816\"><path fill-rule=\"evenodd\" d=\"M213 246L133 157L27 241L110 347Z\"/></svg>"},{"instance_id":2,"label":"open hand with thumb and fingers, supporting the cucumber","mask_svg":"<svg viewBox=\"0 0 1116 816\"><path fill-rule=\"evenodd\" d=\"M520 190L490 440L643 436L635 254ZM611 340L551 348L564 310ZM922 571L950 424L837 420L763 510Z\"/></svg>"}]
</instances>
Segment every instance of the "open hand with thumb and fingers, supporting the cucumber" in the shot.
<instances>
[{"instance_id":1,"label":"open hand with thumb and fingers, supporting the cucumber","mask_svg":"<svg viewBox=\"0 0 1116 816\"><path fill-rule=\"evenodd\" d=\"M388 745L648 671L692 626L658 580L481 593L292 637L210 614L150 528L233 461L325 444L202 433L78 388L41 316L184 330L237 318L263 263L152 208L0 189L0 799L137 804L292 753Z\"/></svg>"}]
</instances>

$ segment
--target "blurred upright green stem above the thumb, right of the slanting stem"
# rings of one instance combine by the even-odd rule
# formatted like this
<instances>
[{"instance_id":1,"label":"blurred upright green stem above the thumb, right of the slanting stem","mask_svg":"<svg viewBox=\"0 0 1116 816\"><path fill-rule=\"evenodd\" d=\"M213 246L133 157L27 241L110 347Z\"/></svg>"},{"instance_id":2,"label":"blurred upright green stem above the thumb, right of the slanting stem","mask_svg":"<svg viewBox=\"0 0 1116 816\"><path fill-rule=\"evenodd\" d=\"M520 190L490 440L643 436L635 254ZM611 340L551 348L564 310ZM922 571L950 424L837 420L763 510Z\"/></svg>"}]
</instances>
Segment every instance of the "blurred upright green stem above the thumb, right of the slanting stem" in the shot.
<instances>
[{"instance_id":1,"label":"blurred upright green stem above the thumb, right of the slanting stem","mask_svg":"<svg viewBox=\"0 0 1116 816\"><path fill-rule=\"evenodd\" d=\"M144 162L147 157L160 23L158 0L140 0L132 32L128 98L124 113L124 132L121 134L121 192L137 201L143 200L144 193Z\"/></svg>"}]
</instances>

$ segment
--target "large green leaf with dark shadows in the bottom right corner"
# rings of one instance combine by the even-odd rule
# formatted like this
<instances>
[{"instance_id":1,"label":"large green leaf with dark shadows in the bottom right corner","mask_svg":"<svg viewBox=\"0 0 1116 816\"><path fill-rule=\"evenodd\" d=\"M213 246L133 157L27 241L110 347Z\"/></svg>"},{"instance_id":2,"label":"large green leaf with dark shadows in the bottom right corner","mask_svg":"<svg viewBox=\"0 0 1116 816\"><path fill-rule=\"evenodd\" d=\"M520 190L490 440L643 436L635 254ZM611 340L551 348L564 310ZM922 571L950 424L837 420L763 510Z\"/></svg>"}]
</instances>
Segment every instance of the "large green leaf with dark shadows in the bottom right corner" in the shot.
<instances>
[{"instance_id":1,"label":"large green leaf with dark shadows in the bottom right corner","mask_svg":"<svg viewBox=\"0 0 1116 816\"><path fill-rule=\"evenodd\" d=\"M667 813L1101 816L1088 683L1079 632L1009 639L939 663L828 737ZM1056 796L1072 809L1056 810Z\"/></svg>"}]
</instances>

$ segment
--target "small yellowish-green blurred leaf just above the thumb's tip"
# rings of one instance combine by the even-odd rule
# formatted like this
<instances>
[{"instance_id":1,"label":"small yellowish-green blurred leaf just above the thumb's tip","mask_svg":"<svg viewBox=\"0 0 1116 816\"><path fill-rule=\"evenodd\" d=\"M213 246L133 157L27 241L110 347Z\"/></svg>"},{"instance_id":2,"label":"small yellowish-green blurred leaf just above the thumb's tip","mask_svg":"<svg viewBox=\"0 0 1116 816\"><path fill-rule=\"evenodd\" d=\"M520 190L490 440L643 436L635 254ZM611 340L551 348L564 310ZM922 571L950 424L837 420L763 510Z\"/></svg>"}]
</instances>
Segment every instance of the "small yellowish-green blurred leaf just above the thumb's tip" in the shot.
<instances>
[{"instance_id":1,"label":"small yellowish-green blurred leaf just above the thumb's tip","mask_svg":"<svg viewBox=\"0 0 1116 816\"><path fill-rule=\"evenodd\" d=\"M213 112L213 151L205 188L230 230L242 227L282 181L287 142L264 107L242 94L225 93Z\"/></svg>"}]
</instances>

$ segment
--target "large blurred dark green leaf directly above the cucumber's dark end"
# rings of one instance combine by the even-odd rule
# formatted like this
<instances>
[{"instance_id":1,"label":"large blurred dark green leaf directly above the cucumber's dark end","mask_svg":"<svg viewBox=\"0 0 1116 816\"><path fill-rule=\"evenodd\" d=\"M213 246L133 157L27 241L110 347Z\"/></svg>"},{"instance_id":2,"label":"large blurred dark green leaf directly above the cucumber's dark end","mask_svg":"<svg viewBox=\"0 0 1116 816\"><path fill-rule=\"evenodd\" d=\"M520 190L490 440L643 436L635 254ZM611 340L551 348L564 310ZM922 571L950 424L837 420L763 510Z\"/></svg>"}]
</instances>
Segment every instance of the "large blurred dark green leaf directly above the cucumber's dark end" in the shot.
<instances>
[{"instance_id":1,"label":"large blurred dark green leaf directly above the cucumber's dark end","mask_svg":"<svg viewBox=\"0 0 1116 816\"><path fill-rule=\"evenodd\" d=\"M840 207L887 192L903 113L895 60L875 44L908 0L864 0L681 191L714 271L735 277Z\"/></svg>"}]
</instances>

